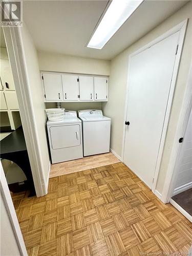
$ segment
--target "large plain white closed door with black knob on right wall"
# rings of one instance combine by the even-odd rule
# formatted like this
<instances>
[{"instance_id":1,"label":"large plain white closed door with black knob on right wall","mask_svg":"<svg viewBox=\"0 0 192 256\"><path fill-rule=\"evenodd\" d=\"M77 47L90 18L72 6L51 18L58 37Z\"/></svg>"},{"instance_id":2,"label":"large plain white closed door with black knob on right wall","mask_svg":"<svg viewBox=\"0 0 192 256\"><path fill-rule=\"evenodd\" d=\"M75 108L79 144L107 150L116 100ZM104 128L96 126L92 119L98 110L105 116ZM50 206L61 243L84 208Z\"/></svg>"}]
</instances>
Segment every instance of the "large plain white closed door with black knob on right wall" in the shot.
<instances>
[{"instance_id":1,"label":"large plain white closed door with black knob on right wall","mask_svg":"<svg viewBox=\"0 0 192 256\"><path fill-rule=\"evenodd\" d=\"M152 187L179 32L131 57L124 162Z\"/></svg>"}]
</instances>

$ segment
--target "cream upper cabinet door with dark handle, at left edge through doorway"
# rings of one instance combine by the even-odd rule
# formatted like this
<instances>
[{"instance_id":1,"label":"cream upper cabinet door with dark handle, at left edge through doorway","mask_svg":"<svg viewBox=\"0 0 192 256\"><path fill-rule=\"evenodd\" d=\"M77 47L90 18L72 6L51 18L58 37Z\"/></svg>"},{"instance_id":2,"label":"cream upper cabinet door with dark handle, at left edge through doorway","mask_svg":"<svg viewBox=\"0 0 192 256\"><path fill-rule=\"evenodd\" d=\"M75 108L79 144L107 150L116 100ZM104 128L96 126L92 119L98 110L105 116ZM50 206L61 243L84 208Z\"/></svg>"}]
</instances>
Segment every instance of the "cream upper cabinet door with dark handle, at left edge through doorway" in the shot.
<instances>
[{"instance_id":1,"label":"cream upper cabinet door with dark handle, at left edge through doorway","mask_svg":"<svg viewBox=\"0 0 192 256\"><path fill-rule=\"evenodd\" d=\"M13 75L10 67L10 63L8 59L1 59L1 80L2 85L5 90L7 91L14 91L14 81L13 81Z\"/></svg>"}]
</instances>

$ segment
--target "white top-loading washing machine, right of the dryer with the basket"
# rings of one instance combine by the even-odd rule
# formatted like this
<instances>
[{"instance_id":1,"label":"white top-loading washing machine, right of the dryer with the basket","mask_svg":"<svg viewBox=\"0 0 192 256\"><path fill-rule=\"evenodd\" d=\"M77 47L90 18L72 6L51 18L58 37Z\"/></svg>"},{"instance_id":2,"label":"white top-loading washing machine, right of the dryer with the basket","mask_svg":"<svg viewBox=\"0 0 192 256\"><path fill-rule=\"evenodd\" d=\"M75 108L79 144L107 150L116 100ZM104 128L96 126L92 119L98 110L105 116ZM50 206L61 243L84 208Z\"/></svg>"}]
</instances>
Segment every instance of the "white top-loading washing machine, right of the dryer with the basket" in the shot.
<instances>
[{"instance_id":1,"label":"white top-loading washing machine, right of the dryer with the basket","mask_svg":"<svg viewBox=\"0 0 192 256\"><path fill-rule=\"evenodd\" d=\"M79 110L82 120L83 156L110 152L111 118L101 110Z\"/></svg>"}]
</instances>

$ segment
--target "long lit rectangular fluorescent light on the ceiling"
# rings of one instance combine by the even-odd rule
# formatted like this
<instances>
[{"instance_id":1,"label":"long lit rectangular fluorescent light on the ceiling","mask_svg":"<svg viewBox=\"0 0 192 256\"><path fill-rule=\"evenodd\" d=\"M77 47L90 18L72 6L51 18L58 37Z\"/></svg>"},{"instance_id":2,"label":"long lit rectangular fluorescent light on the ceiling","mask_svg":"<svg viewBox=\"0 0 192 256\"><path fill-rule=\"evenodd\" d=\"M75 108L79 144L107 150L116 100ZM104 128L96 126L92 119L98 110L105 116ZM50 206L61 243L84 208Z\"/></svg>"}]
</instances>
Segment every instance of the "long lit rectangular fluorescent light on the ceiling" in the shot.
<instances>
[{"instance_id":1,"label":"long lit rectangular fluorescent light on the ceiling","mask_svg":"<svg viewBox=\"0 0 192 256\"><path fill-rule=\"evenodd\" d=\"M102 49L143 0L113 0L87 47Z\"/></svg>"}]
</instances>

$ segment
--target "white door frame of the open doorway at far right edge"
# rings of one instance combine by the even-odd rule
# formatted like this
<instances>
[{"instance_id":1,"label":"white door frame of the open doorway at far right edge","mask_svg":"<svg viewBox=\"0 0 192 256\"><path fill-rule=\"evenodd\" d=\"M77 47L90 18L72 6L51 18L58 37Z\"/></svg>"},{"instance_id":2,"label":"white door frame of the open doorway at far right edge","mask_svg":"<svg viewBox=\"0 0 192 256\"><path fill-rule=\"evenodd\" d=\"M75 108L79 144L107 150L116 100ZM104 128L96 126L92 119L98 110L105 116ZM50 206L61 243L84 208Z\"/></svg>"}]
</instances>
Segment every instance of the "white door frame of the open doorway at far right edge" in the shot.
<instances>
[{"instance_id":1,"label":"white door frame of the open doorway at far right edge","mask_svg":"<svg viewBox=\"0 0 192 256\"><path fill-rule=\"evenodd\" d=\"M188 81L183 97L183 102L181 106L181 111L177 123L177 130L174 137L172 152L170 154L169 164L167 168L167 173L165 177L165 182L162 191L161 200L163 203L168 203L173 196L175 189L175 182L177 178L177 165L179 161L179 154L181 151L182 143L179 143L179 138L184 137L186 132L186 127L188 123L188 118L192 108L192 62L189 69Z\"/></svg>"}]
</instances>

